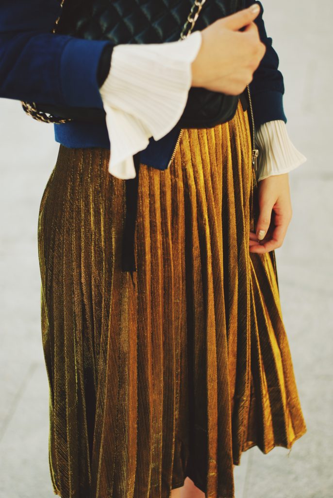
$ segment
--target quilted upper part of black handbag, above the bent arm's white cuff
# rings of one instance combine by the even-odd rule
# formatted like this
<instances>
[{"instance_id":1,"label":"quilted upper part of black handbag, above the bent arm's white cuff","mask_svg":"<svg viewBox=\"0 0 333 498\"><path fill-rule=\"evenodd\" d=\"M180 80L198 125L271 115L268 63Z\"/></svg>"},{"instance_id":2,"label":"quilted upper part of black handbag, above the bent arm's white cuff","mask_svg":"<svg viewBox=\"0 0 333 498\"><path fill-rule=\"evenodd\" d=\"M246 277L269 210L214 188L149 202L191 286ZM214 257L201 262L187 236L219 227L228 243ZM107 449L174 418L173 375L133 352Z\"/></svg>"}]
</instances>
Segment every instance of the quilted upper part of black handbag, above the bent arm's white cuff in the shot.
<instances>
[{"instance_id":1,"label":"quilted upper part of black handbag, above the bent arm's white cuff","mask_svg":"<svg viewBox=\"0 0 333 498\"><path fill-rule=\"evenodd\" d=\"M159 43L179 39L194 0L65 0L57 32L90 40ZM241 8L245 0L206 0L193 31Z\"/></svg>"}]
</instances>

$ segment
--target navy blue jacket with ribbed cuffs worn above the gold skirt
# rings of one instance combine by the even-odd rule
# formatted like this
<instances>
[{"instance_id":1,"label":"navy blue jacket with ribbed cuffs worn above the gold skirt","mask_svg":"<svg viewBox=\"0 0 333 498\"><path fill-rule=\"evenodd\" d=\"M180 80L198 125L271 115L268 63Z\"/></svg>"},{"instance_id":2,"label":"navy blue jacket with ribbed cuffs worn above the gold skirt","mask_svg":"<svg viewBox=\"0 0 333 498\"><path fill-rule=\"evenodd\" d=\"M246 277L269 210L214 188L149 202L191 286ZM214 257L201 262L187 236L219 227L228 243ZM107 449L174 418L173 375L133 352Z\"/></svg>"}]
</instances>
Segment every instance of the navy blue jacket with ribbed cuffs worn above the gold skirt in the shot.
<instances>
[{"instance_id":1,"label":"navy blue jacket with ribbed cuffs worn above the gold skirt","mask_svg":"<svg viewBox=\"0 0 333 498\"><path fill-rule=\"evenodd\" d=\"M246 0L247 5L253 0ZM267 37L263 7L255 19L266 53L250 83L254 124L287 119L278 56ZM99 107L97 71L109 41L52 34L59 0L1 0L0 97L61 106ZM105 122L55 124L56 141L68 147L110 147Z\"/></svg>"}]
</instances>

